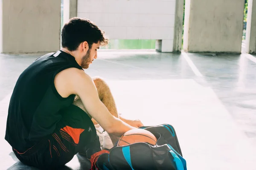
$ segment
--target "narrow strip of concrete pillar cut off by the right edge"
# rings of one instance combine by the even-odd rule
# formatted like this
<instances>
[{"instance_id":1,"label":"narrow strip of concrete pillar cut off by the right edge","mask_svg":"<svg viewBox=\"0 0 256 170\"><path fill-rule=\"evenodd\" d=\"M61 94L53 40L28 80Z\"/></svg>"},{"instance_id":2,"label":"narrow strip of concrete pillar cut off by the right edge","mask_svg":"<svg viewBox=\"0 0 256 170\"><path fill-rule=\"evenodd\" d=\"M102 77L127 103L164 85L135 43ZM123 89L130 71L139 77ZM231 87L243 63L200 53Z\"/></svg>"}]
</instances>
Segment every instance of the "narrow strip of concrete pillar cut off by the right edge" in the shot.
<instances>
[{"instance_id":1,"label":"narrow strip of concrete pillar cut off by the right edge","mask_svg":"<svg viewBox=\"0 0 256 170\"><path fill-rule=\"evenodd\" d=\"M248 0L245 50L256 53L256 1Z\"/></svg>"}]
</instances>

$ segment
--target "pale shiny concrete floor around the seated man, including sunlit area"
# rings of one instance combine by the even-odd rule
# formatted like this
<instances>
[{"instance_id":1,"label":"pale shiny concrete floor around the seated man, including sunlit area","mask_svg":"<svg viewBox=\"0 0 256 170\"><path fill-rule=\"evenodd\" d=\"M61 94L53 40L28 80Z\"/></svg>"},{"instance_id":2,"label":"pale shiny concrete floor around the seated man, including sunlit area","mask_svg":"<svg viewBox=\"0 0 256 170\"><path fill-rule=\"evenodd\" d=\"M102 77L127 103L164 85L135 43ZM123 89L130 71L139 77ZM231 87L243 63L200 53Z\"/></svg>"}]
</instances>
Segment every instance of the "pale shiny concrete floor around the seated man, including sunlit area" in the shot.
<instances>
[{"instance_id":1,"label":"pale shiny concrete floor around the seated man, including sunlit area","mask_svg":"<svg viewBox=\"0 0 256 170\"><path fill-rule=\"evenodd\" d=\"M4 134L15 81L40 55L0 54L0 169L35 169L15 158ZM86 72L109 83L125 117L173 125L188 170L256 170L254 56L102 50ZM75 156L66 168L89 164Z\"/></svg>"}]
</instances>

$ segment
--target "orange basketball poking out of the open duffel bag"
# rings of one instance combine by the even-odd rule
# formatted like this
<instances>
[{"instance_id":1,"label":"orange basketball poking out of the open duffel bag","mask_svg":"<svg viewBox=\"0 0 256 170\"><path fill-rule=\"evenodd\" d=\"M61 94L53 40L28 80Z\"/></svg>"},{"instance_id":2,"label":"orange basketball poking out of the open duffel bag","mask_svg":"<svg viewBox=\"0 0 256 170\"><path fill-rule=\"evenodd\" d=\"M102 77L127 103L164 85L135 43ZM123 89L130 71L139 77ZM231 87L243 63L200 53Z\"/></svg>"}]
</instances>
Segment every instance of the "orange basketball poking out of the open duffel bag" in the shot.
<instances>
[{"instance_id":1,"label":"orange basketball poking out of the open duffel bag","mask_svg":"<svg viewBox=\"0 0 256 170\"><path fill-rule=\"evenodd\" d=\"M137 142L147 142L149 144L155 145L157 142L157 138L148 130L132 129L123 134L123 136L121 136L117 143L117 146L125 146Z\"/></svg>"}]
</instances>

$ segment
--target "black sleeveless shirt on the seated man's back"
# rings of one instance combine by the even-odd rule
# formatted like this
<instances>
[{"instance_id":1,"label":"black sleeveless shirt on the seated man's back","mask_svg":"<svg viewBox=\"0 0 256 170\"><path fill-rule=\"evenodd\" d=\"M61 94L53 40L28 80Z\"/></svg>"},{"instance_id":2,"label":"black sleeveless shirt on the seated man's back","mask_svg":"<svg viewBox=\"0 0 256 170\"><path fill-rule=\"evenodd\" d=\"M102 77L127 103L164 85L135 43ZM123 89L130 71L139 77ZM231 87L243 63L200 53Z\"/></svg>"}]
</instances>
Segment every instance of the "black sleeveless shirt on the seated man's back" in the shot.
<instances>
[{"instance_id":1,"label":"black sleeveless shirt on the seated man's back","mask_svg":"<svg viewBox=\"0 0 256 170\"><path fill-rule=\"evenodd\" d=\"M51 134L61 119L61 110L73 103L75 95L63 98L54 85L55 75L67 68L82 69L72 55L57 51L36 59L18 78L5 139L19 152Z\"/></svg>"}]
</instances>

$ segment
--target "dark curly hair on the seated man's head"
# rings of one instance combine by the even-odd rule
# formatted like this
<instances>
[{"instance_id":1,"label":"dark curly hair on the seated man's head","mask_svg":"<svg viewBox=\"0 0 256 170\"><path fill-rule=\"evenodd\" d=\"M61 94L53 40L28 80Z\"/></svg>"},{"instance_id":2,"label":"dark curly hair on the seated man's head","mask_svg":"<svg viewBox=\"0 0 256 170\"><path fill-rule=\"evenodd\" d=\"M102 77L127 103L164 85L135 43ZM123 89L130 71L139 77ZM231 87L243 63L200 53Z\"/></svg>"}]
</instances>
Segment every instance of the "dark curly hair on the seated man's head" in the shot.
<instances>
[{"instance_id":1,"label":"dark curly hair on the seated man's head","mask_svg":"<svg viewBox=\"0 0 256 170\"><path fill-rule=\"evenodd\" d=\"M61 31L61 46L69 51L75 51L81 42L87 41L89 48L93 43L101 46L108 44L105 32L95 23L86 18L73 17L65 23Z\"/></svg>"}]
</instances>

